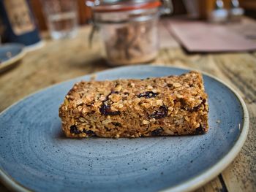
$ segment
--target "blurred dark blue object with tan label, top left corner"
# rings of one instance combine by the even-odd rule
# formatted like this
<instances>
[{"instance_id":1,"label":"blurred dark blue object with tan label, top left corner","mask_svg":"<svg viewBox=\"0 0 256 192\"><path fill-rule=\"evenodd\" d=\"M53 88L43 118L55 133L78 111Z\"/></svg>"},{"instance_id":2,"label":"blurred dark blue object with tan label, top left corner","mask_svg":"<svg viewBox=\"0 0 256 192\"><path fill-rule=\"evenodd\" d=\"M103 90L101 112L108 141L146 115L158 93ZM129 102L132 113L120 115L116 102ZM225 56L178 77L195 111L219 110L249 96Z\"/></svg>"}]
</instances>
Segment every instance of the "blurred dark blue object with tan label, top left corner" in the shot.
<instances>
[{"instance_id":1,"label":"blurred dark blue object with tan label, top left corner","mask_svg":"<svg viewBox=\"0 0 256 192\"><path fill-rule=\"evenodd\" d=\"M40 42L29 2L26 0L0 0L3 42L18 42L26 46Z\"/></svg>"}]
</instances>

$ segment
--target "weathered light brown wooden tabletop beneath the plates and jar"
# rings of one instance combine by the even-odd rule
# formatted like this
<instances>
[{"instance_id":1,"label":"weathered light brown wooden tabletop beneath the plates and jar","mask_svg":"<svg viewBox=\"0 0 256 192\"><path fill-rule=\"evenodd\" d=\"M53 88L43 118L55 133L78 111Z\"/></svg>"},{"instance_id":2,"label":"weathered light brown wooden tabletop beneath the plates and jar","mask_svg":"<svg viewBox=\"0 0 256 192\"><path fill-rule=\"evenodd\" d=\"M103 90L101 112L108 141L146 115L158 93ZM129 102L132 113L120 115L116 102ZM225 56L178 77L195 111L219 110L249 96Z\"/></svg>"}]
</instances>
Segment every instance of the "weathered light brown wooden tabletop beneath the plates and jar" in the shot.
<instances>
[{"instance_id":1,"label":"weathered light brown wooden tabletop beneath the plates and jar","mask_svg":"<svg viewBox=\"0 0 256 192\"><path fill-rule=\"evenodd\" d=\"M213 74L227 82L244 98L249 110L249 135L241 152L218 177L197 191L256 191L256 52L187 54L161 26L161 50L152 65L188 66ZM80 28L78 37L53 41L27 53L23 61L0 74L0 112L34 91L93 72L109 69L102 58L102 42L88 45L90 27ZM0 184L0 191L7 191Z\"/></svg>"}]
</instances>

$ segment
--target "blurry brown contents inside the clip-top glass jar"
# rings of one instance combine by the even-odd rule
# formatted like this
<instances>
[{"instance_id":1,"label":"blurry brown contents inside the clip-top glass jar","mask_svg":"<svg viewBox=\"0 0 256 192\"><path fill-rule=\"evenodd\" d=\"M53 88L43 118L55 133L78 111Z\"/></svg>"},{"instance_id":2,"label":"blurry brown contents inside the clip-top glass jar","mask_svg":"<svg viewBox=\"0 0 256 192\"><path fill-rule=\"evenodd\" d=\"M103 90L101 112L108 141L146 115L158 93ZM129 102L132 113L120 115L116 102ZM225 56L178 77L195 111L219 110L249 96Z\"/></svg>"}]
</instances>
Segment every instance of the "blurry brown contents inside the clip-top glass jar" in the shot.
<instances>
[{"instance_id":1,"label":"blurry brown contents inside the clip-top glass jar","mask_svg":"<svg viewBox=\"0 0 256 192\"><path fill-rule=\"evenodd\" d=\"M106 25L102 33L110 64L138 64L157 56L157 20Z\"/></svg>"}]
</instances>

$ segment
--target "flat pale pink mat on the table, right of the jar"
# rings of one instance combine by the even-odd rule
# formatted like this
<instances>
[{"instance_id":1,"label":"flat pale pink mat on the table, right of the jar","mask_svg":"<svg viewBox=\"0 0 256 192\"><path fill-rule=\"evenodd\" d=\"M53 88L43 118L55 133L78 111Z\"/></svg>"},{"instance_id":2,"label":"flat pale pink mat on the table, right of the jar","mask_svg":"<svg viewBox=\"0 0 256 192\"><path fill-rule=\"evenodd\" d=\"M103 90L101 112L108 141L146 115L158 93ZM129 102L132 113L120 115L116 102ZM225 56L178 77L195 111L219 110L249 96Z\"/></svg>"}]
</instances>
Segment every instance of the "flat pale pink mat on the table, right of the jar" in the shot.
<instances>
[{"instance_id":1,"label":"flat pale pink mat on the table, right of the jar","mask_svg":"<svg viewBox=\"0 0 256 192\"><path fill-rule=\"evenodd\" d=\"M213 24L193 20L165 20L167 28L189 52L256 50L256 22Z\"/></svg>"}]
</instances>

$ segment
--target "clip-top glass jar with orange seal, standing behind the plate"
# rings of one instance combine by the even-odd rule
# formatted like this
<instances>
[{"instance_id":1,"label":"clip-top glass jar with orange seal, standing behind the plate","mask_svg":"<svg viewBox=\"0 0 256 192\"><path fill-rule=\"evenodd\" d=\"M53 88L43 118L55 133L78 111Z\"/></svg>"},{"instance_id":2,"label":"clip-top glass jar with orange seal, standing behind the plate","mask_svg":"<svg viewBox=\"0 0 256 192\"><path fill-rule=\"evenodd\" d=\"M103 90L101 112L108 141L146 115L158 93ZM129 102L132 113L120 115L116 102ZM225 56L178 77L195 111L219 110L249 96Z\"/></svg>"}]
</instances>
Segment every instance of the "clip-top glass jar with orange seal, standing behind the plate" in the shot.
<instances>
[{"instance_id":1,"label":"clip-top glass jar with orange seal, standing behind the plate","mask_svg":"<svg viewBox=\"0 0 256 192\"><path fill-rule=\"evenodd\" d=\"M94 28L105 43L112 65L142 64L154 60L159 50L159 15L170 13L170 1L105 0L87 1L92 8Z\"/></svg>"}]
</instances>

